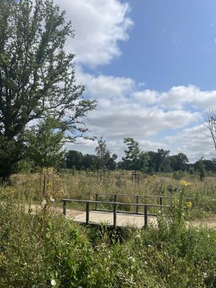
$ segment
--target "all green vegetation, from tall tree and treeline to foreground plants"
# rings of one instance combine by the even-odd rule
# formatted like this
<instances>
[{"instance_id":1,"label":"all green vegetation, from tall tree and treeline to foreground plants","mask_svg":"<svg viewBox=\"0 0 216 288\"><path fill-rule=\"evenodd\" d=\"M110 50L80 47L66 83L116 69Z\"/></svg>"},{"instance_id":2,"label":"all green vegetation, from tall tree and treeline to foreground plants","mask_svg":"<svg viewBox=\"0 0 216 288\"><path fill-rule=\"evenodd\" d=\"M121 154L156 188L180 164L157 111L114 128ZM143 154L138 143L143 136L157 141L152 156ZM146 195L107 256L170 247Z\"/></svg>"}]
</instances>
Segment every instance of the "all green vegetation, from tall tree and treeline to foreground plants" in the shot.
<instances>
[{"instance_id":1,"label":"all green vegetation, from tall tree and treeline to foreground plants","mask_svg":"<svg viewBox=\"0 0 216 288\"><path fill-rule=\"evenodd\" d=\"M85 137L83 117L95 109L65 52L73 36L53 0L0 0L0 287L216 287L216 230L198 225L216 223L215 159L188 164L183 153L141 151L131 137L118 163L103 137L94 155L63 151ZM214 110L207 128L216 147ZM119 194L118 210L136 195L170 196L170 207L149 208L157 225L141 230L82 227L61 213L60 198L94 193Z\"/></svg>"}]
</instances>

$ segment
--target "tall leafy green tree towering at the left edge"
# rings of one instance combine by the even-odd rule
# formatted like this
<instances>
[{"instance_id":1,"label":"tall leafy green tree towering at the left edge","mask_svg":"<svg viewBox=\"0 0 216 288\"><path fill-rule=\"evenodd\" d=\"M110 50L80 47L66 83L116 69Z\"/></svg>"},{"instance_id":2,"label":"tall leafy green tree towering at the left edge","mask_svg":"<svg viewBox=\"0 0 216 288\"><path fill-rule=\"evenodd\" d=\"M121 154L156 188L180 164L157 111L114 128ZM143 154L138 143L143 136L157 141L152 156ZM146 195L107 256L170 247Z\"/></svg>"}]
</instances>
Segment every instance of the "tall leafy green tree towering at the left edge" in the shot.
<instances>
[{"instance_id":1,"label":"tall leafy green tree towering at the left edge","mask_svg":"<svg viewBox=\"0 0 216 288\"><path fill-rule=\"evenodd\" d=\"M95 102L75 82L73 37L53 0L0 0L0 178L7 178L25 149L26 124L58 119L65 141L87 131L82 118Z\"/></svg>"}]
</instances>

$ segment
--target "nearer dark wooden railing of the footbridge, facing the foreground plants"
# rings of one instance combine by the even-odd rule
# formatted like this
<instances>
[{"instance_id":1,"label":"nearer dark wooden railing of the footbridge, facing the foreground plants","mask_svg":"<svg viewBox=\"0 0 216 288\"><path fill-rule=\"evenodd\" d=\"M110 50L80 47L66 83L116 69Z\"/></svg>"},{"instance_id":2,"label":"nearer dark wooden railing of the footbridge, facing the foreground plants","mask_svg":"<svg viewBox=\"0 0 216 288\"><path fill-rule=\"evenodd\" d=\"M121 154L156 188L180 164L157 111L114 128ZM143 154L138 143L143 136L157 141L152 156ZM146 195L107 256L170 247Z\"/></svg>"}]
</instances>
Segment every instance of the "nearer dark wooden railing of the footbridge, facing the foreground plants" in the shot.
<instances>
[{"instance_id":1,"label":"nearer dark wooden railing of the footbridge, facing the foreground plants","mask_svg":"<svg viewBox=\"0 0 216 288\"><path fill-rule=\"evenodd\" d=\"M77 200L77 199L62 199L63 201L63 214L66 216L67 213L67 208L66 208L66 203L67 202L73 202L73 203L85 203L86 204L86 218L85 218L85 223L88 225L90 223L90 204L91 203L95 203L95 204L109 204L113 206L113 227L116 228L117 227L117 213L119 211L117 211L117 206L121 205L121 206L139 206L140 207L144 207L144 213L139 213L141 215L144 215L144 227L147 227L148 225L148 216L152 215L152 214L148 214L148 208L153 207L153 208L170 208L170 206L167 205L154 205L154 204L141 204L141 203L121 203L121 202L108 202L108 201L91 201L91 200ZM122 213L122 212L121 212Z\"/></svg>"}]
</instances>

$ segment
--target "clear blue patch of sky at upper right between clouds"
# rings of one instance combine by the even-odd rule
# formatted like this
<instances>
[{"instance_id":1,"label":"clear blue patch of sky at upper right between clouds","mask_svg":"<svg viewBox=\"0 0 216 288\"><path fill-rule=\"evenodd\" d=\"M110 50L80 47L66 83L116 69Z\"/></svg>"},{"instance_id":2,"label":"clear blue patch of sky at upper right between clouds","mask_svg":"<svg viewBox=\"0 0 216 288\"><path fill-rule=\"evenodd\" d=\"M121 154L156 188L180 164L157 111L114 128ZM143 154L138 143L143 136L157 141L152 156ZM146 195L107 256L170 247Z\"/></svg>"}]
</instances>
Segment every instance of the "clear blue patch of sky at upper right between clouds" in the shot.
<instances>
[{"instance_id":1,"label":"clear blue patch of sky at upper right between clouds","mask_svg":"<svg viewBox=\"0 0 216 288\"><path fill-rule=\"evenodd\" d=\"M216 1L133 0L134 27L119 43L121 57L102 72L166 91L175 85L215 89Z\"/></svg>"}]
</instances>

